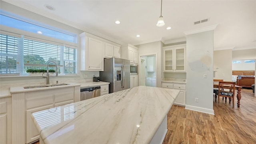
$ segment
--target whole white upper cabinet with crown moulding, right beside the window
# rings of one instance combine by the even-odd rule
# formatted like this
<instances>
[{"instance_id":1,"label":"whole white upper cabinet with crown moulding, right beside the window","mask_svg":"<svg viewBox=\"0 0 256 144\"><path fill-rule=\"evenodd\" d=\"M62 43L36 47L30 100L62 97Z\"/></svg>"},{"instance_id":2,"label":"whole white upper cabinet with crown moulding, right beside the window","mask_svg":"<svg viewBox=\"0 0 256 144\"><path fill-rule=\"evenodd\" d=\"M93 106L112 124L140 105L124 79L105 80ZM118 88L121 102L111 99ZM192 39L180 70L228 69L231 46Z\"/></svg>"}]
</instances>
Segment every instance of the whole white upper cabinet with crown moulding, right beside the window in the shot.
<instances>
[{"instance_id":1,"label":"whole white upper cabinet with crown moulding, right beside the window","mask_svg":"<svg viewBox=\"0 0 256 144\"><path fill-rule=\"evenodd\" d=\"M80 70L103 71L103 49L105 43L92 34L83 32L81 38Z\"/></svg>"}]
</instances>

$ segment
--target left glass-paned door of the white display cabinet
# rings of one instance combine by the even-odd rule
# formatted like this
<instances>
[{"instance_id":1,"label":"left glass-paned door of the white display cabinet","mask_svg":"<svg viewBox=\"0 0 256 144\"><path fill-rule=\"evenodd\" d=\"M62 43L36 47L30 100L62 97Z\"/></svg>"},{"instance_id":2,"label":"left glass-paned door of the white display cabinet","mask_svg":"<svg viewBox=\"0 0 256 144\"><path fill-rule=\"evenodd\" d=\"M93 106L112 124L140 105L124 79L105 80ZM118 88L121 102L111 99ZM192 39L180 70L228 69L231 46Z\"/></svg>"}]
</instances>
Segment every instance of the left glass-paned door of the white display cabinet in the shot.
<instances>
[{"instance_id":1,"label":"left glass-paned door of the white display cabinet","mask_svg":"<svg viewBox=\"0 0 256 144\"><path fill-rule=\"evenodd\" d=\"M168 48L164 50L164 71L173 72L174 71L174 52L173 48Z\"/></svg>"}]
</instances>

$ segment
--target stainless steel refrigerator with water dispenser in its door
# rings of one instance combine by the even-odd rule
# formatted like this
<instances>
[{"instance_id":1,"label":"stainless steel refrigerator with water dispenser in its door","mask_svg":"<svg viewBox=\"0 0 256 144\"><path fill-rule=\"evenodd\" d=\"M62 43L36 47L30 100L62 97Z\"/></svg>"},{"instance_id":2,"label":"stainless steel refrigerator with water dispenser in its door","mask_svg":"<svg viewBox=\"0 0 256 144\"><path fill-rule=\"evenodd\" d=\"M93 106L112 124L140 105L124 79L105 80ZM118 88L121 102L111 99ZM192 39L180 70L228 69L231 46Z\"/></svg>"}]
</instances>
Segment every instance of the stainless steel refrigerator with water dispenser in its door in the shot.
<instances>
[{"instance_id":1,"label":"stainless steel refrigerator with water dispenser in its door","mask_svg":"<svg viewBox=\"0 0 256 144\"><path fill-rule=\"evenodd\" d=\"M109 93L130 88L130 60L104 58L104 71L100 72L100 81L110 82Z\"/></svg>"}]
</instances>

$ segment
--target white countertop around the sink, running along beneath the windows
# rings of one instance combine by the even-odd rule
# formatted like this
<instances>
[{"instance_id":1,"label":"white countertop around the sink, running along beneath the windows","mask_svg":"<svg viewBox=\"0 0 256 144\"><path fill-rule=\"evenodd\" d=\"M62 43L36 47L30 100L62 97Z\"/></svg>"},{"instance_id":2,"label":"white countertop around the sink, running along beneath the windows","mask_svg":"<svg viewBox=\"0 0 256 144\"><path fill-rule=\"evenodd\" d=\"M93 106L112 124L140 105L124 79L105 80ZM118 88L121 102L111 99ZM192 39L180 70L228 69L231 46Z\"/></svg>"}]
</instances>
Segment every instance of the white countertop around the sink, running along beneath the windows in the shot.
<instances>
[{"instance_id":1,"label":"white countertop around the sink, running along beneath the windows","mask_svg":"<svg viewBox=\"0 0 256 144\"><path fill-rule=\"evenodd\" d=\"M50 84L55 84L56 81L50 81ZM81 88L98 86L102 84L109 84L109 82L92 82L92 79L83 79L83 80L59 80L59 84L61 83L78 83L81 84ZM0 98L12 96L10 94L10 87L16 86L35 86L35 85L45 85L45 82L33 82L33 83L19 83L19 84L1 84L0 85Z\"/></svg>"}]
</instances>

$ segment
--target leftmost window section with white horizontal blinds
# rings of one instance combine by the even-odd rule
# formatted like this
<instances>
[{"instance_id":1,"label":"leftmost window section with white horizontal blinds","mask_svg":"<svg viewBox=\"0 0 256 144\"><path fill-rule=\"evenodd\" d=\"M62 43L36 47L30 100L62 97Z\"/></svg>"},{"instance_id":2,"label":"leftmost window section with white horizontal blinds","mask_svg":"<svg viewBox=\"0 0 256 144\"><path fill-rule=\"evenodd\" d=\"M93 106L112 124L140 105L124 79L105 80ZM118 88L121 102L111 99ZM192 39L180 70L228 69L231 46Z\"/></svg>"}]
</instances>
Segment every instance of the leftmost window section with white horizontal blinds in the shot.
<instances>
[{"instance_id":1,"label":"leftmost window section with white horizontal blinds","mask_svg":"<svg viewBox=\"0 0 256 144\"><path fill-rule=\"evenodd\" d=\"M0 74L16 74L18 37L0 34Z\"/></svg>"}]
</instances>

